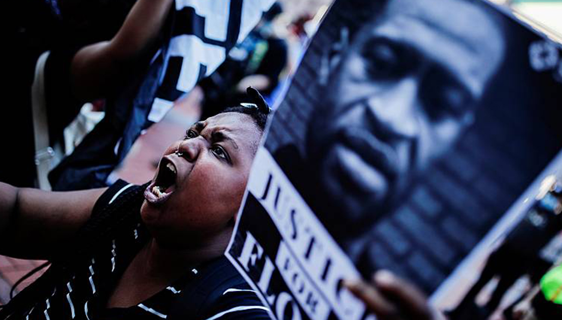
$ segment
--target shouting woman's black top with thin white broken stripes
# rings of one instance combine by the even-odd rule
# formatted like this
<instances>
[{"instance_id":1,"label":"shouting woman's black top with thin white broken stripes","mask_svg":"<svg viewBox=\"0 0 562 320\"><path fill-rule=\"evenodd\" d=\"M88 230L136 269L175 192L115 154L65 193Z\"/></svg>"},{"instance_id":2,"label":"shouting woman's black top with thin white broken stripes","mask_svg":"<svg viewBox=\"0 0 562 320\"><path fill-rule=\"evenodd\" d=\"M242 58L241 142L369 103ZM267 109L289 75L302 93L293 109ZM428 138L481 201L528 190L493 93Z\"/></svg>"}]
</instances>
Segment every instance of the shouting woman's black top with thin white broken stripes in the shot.
<instances>
[{"instance_id":1,"label":"shouting woman's black top with thin white broken stripes","mask_svg":"<svg viewBox=\"0 0 562 320\"><path fill-rule=\"evenodd\" d=\"M138 305L105 307L129 263L151 239L139 214L144 188L146 185L134 186L120 180L108 189L98 199L92 218L78 239L71 241L80 244L83 250L69 250L55 258L46 274L36 281L39 285L32 284L13 299L19 307L9 311L14 313L10 319L170 319L168 316L173 308L178 308L176 301L182 299L182 292L194 290L217 297L208 309L187 310L194 319L206 319L221 312L228 313L230 318L269 319L266 308L238 273L235 276L241 281L236 281L232 288L225 289L219 285L220 281L215 281L214 286L192 289L193 285L201 286L199 278L213 268L234 268L225 257L186 270L183 277ZM199 305L187 303L179 307ZM10 305L0 312L0 319L8 316L8 310Z\"/></svg>"}]
</instances>

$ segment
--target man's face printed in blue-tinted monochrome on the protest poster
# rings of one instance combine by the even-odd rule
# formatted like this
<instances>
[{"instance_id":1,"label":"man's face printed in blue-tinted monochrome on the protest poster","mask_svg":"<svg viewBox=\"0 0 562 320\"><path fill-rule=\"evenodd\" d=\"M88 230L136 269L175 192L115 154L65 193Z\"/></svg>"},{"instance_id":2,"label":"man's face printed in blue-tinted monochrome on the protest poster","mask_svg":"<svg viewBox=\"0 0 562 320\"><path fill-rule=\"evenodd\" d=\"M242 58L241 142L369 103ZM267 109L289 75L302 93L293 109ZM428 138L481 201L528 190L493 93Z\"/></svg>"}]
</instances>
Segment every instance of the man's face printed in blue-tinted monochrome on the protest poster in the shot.
<instances>
[{"instance_id":1,"label":"man's face printed in blue-tinted monochrome on the protest poster","mask_svg":"<svg viewBox=\"0 0 562 320\"><path fill-rule=\"evenodd\" d=\"M473 121L503 47L488 13L461 0L393 0L362 26L307 134L327 199L355 222L391 209Z\"/></svg>"}]
</instances>

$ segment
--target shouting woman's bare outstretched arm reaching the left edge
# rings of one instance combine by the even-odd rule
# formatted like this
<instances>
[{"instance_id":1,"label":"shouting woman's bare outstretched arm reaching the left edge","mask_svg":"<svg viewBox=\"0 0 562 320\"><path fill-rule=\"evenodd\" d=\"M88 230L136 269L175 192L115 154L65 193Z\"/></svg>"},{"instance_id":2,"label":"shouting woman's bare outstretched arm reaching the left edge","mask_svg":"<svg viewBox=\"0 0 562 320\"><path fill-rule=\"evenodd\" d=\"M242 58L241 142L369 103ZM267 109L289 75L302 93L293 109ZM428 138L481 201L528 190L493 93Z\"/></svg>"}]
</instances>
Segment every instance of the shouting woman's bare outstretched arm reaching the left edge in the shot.
<instances>
[{"instance_id":1,"label":"shouting woman's bare outstretched arm reaching the left edge","mask_svg":"<svg viewBox=\"0 0 562 320\"><path fill-rule=\"evenodd\" d=\"M48 259L65 248L106 189L50 192L0 182L0 254Z\"/></svg>"}]
</instances>

